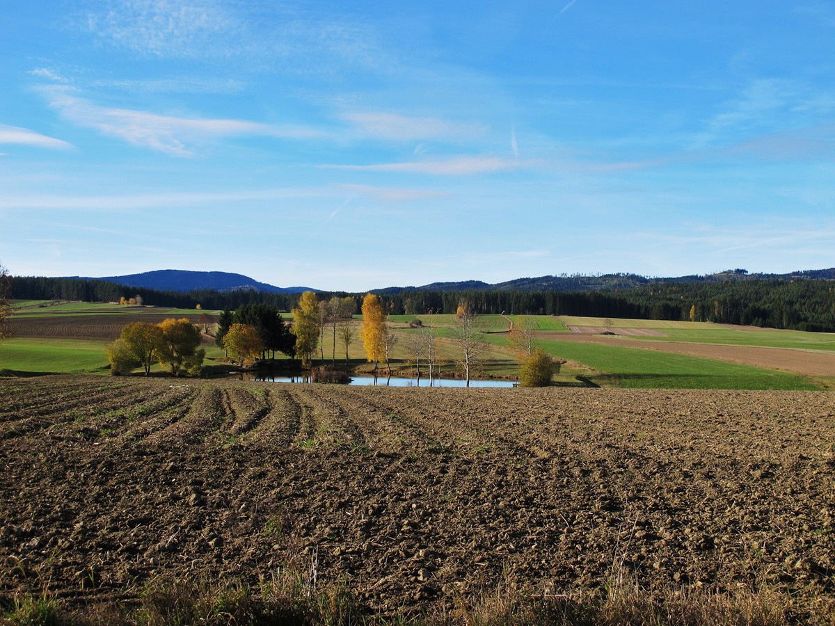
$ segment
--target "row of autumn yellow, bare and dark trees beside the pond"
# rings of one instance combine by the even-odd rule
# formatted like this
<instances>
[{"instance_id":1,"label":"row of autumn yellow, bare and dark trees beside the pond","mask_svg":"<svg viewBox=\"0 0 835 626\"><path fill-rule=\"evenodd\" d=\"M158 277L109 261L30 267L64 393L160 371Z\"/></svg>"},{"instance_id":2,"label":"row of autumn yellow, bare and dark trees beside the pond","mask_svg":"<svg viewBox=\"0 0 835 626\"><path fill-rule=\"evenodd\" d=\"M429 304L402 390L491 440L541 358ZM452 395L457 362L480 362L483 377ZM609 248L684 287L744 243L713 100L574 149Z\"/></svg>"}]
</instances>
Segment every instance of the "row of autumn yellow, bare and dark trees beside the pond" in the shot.
<instances>
[{"instance_id":1,"label":"row of autumn yellow, bare and dark trees beside the pond","mask_svg":"<svg viewBox=\"0 0 835 626\"><path fill-rule=\"evenodd\" d=\"M318 375L335 376L339 373L336 368L337 339L344 346L346 370L349 365L349 346L357 336L357 325L353 321L355 310L356 303L351 296L333 295L329 300L319 300L312 291L301 295L297 305L292 308L292 321L289 323L273 305L241 305L235 311L224 309L220 312L215 342L225 348L226 355L235 359L239 366L243 366L244 361L249 359L274 359L276 351L291 358L300 356L303 366L311 366L317 356L324 363L325 345L330 342L331 367L321 368ZM487 345L478 328L477 316L466 301L458 303L456 319L458 323L453 325L450 338L458 347L460 354L457 361L469 386L473 371L480 364ZM391 376L390 356L401 336L389 325L386 311L377 295L366 294L363 297L360 326L358 335L375 375L377 368L384 362L387 376ZM429 379L432 380L433 367L439 365L438 337L434 335L432 326L424 328L417 320L412 327L416 332L404 338L407 341L409 361L417 369L417 377L421 376L423 361ZM521 324L519 328L511 329L510 339L521 357L522 384L549 384L555 364L544 352L534 349L530 327ZM199 346L200 328L185 318L165 320L159 324L134 321L124 326L119 339L111 342L105 352L114 375L128 373L142 366L145 376L149 376L155 361L170 366L174 376L183 373L198 375L205 357L205 351ZM341 376L347 378L347 373L342 371ZM340 379L334 377L326 381Z\"/></svg>"}]
</instances>

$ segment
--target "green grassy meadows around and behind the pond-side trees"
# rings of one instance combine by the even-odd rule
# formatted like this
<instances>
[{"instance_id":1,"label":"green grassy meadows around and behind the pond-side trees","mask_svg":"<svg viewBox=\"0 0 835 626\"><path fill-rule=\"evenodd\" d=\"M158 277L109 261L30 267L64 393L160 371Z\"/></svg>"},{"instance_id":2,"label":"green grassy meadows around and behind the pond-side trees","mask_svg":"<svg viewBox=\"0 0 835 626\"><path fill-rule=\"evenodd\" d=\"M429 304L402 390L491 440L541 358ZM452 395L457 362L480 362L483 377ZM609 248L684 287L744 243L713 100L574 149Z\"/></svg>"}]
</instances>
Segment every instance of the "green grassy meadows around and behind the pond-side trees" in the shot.
<instances>
[{"instance_id":1,"label":"green grassy meadows around and behind the pond-side trees","mask_svg":"<svg viewBox=\"0 0 835 626\"><path fill-rule=\"evenodd\" d=\"M140 320L144 315L179 317L217 311L180 310L153 306L123 306L88 302L49 302L28 300L13 303L14 318L25 321L44 317L60 318L68 329L73 317L101 316L104 322L114 320L121 324ZM357 332L348 349L353 367L367 369L368 364L359 337L362 316L354 322ZM423 332L410 328L409 324L420 319L423 326L431 326L436 341L440 365L448 376L458 371L458 346L453 334L457 319L453 315L391 316L392 329L398 341L392 350L392 368L409 374L414 363L412 345L415 337ZM509 328L531 328L536 344L550 356L566 361L554 377L554 384L563 386L622 386L641 388L692 388L692 389L775 389L807 390L830 386L830 381L812 381L806 376L786 371L776 371L757 366L741 365L729 361L674 354L660 350L640 349L641 343L649 347L660 343L694 343L716 346L758 346L798 351L835 351L835 336L825 333L801 331L774 331L741 326L720 326L703 322L622 320L605 318L579 318L569 316L481 316L478 327L483 332L485 350L480 356L477 376L513 378L518 374L518 355L510 347ZM571 341L569 326L586 328L610 327L655 331L651 335L630 336L630 346ZM554 335L556 333L557 335ZM588 333L586 334L588 335ZM558 337L559 339L555 339ZM55 337L15 337L0 344L0 371L7 374L26 375L43 373L98 373L109 374L104 346L108 341L73 338L72 331L63 331ZM215 346L205 346L206 365L222 358L223 351ZM329 329L324 334L323 349L316 355L324 361L344 363L345 348L337 338L336 354L333 351ZM425 364L424 364L425 366ZM163 371L154 366L154 371ZM835 382L835 381L831 381Z\"/></svg>"}]
</instances>

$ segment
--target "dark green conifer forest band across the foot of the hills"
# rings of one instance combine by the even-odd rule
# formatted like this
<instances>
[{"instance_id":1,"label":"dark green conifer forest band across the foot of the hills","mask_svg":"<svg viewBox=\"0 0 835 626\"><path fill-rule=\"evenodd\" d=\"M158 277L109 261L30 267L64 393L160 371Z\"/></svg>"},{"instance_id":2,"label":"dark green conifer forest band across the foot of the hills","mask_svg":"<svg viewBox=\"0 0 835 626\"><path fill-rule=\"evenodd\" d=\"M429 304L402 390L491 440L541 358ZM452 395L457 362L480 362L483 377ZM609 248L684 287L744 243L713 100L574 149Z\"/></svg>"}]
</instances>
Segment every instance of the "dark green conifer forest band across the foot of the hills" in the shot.
<instances>
[{"instance_id":1,"label":"dark green conifer forest band across the foot of the hills","mask_svg":"<svg viewBox=\"0 0 835 626\"><path fill-rule=\"evenodd\" d=\"M835 283L830 280L658 281L627 290L582 292L542 290L401 290L378 295L382 309L392 315L452 314L468 301L474 314L566 315L648 320L711 321L802 331L835 331ZM100 280L16 277L13 297L32 300L114 302L124 297L122 285ZM129 288L145 304L235 310L240 305L266 304L291 310L301 294L213 290L178 293ZM320 292L330 300L351 298L355 309L362 295Z\"/></svg>"}]
</instances>

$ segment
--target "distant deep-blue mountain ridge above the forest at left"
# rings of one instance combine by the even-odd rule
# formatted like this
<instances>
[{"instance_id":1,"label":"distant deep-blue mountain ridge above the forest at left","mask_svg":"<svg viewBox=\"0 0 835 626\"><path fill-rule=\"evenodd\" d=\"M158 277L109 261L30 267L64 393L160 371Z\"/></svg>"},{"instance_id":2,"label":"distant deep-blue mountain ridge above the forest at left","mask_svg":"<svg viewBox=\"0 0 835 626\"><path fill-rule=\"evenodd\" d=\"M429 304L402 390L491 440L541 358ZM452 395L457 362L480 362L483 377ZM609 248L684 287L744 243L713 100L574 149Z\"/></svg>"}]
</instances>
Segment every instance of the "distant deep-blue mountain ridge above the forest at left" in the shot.
<instances>
[{"instance_id":1,"label":"distant deep-blue mountain ridge above the forest at left","mask_svg":"<svg viewBox=\"0 0 835 626\"><path fill-rule=\"evenodd\" d=\"M72 278L80 277L72 276ZM154 270L124 276L86 277L86 280L107 280L108 282L126 287L142 287L157 291L177 291L182 293L200 290L215 290L220 292L256 290L276 294L318 291L310 287L276 287L276 285L261 283L242 274L215 271Z\"/></svg>"}]
</instances>

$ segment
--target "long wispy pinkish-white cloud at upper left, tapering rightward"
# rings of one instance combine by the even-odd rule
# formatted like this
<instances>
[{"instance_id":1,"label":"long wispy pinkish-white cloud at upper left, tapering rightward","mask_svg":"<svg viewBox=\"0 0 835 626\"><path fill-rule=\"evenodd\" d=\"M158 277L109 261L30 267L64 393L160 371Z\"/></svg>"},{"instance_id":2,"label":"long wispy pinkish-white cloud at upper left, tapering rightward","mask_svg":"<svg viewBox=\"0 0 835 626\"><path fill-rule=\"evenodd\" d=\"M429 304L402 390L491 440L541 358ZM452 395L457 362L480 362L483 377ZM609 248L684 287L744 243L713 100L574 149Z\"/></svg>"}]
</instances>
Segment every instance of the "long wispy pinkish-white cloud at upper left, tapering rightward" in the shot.
<instances>
[{"instance_id":1,"label":"long wispy pinkish-white cloud at upper left, tapering rightward","mask_svg":"<svg viewBox=\"0 0 835 626\"><path fill-rule=\"evenodd\" d=\"M322 139L316 129L294 125L261 124L240 119L201 119L159 115L132 109L112 109L77 98L64 88L46 88L50 105L65 118L85 128L123 139L129 144L175 156L190 156L207 140L240 136L277 139Z\"/></svg>"}]
</instances>

